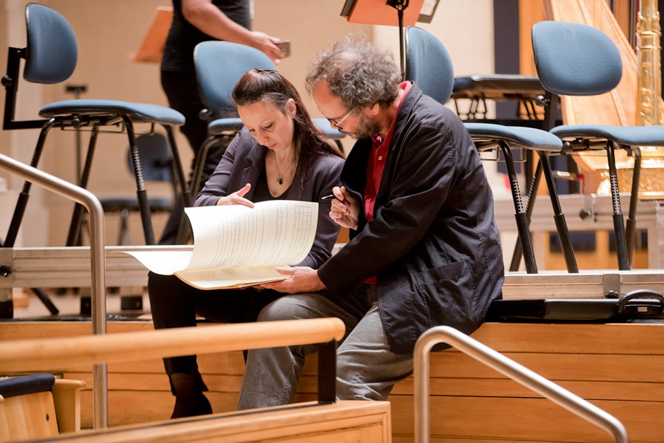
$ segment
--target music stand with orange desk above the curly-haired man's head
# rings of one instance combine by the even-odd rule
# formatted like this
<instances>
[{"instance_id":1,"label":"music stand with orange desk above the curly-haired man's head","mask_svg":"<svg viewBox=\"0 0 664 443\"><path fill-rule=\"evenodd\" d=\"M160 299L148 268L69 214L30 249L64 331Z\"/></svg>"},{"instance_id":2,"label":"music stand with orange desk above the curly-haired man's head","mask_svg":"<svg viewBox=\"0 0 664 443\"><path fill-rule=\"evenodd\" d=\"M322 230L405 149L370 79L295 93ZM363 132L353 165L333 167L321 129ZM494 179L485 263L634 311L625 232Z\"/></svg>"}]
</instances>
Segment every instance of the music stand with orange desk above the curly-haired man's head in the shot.
<instances>
[{"instance_id":1,"label":"music stand with orange desk above the curly-haired man's head","mask_svg":"<svg viewBox=\"0 0 664 443\"><path fill-rule=\"evenodd\" d=\"M346 0L341 16L349 23L399 27L401 76L405 69L403 27L430 23L439 0ZM396 15L394 14L396 10Z\"/></svg>"}]
</instances>

